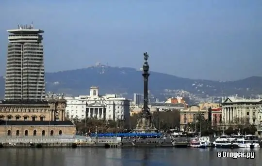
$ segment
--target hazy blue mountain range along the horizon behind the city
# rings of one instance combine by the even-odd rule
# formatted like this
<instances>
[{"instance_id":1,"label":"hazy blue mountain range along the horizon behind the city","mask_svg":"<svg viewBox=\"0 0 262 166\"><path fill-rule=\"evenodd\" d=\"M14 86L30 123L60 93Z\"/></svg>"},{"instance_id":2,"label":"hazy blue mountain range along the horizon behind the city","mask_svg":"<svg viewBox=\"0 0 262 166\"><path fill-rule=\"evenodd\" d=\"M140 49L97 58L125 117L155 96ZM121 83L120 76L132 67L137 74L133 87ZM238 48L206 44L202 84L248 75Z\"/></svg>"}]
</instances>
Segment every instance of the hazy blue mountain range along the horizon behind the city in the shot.
<instances>
[{"instance_id":1,"label":"hazy blue mountain range along the horizon behind the city","mask_svg":"<svg viewBox=\"0 0 262 166\"><path fill-rule=\"evenodd\" d=\"M262 94L262 77L252 76L236 81L212 81L182 78L150 72L148 89L151 96L255 96ZM99 87L99 94L116 93L133 98L143 93L142 71L128 67L97 65L84 69L46 73L46 91L67 95L88 95L91 86ZM4 77L0 77L0 98L4 96Z\"/></svg>"}]
</instances>

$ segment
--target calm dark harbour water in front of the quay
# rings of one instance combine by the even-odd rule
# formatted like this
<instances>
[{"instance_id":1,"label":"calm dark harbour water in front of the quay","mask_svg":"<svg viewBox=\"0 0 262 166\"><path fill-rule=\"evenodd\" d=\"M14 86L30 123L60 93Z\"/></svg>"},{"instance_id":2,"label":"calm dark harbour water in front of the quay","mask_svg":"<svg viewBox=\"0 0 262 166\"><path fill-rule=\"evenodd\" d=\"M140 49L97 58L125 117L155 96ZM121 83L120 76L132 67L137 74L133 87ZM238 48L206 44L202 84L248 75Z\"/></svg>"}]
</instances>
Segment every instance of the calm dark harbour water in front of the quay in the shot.
<instances>
[{"instance_id":1,"label":"calm dark harbour water in front of the quay","mask_svg":"<svg viewBox=\"0 0 262 166\"><path fill-rule=\"evenodd\" d=\"M217 158L215 149L175 148L57 148L0 149L0 166L261 166L262 150L255 159Z\"/></svg>"}]
</instances>

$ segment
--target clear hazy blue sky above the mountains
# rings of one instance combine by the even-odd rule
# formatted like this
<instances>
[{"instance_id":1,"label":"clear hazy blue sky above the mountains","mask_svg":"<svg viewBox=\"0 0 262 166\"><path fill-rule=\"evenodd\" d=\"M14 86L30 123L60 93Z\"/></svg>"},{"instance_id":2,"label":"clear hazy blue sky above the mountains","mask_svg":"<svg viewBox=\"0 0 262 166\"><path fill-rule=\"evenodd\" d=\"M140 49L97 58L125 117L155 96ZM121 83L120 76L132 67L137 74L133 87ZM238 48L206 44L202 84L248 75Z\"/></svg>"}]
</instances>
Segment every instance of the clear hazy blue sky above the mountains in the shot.
<instances>
[{"instance_id":1,"label":"clear hazy blue sky above the mountains","mask_svg":"<svg viewBox=\"0 0 262 166\"><path fill-rule=\"evenodd\" d=\"M143 65L192 79L262 76L262 0L0 0L0 75L8 29L43 33L45 71Z\"/></svg>"}]
</instances>

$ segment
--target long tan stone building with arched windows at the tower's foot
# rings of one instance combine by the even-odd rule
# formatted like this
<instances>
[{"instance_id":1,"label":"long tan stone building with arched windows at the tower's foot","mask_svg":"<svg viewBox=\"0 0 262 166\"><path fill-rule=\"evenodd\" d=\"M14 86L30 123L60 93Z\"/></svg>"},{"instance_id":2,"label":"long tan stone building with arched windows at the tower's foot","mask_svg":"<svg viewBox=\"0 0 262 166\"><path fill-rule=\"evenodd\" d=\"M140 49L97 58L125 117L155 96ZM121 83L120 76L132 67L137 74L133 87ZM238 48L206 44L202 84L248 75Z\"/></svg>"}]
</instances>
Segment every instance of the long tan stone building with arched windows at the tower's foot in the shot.
<instances>
[{"instance_id":1,"label":"long tan stone building with arched windows at the tower's foot","mask_svg":"<svg viewBox=\"0 0 262 166\"><path fill-rule=\"evenodd\" d=\"M75 125L66 121L64 97L47 101L0 101L0 137L74 135Z\"/></svg>"}]
</instances>

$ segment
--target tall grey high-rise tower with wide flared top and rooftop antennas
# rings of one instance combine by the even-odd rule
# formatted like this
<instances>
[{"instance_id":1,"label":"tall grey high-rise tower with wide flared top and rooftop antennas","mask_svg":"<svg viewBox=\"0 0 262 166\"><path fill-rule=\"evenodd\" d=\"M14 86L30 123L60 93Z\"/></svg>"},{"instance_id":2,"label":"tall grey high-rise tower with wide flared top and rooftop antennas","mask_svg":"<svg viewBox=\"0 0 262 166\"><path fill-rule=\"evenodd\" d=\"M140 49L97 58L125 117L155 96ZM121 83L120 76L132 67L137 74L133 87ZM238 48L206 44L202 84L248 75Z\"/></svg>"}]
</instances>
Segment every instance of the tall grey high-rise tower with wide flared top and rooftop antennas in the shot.
<instances>
[{"instance_id":1,"label":"tall grey high-rise tower with wide flared top and rooftop antennas","mask_svg":"<svg viewBox=\"0 0 262 166\"><path fill-rule=\"evenodd\" d=\"M9 32L5 100L45 100L43 30L18 25Z\"/></svg>"}]
</instances>

